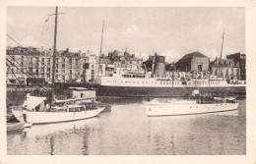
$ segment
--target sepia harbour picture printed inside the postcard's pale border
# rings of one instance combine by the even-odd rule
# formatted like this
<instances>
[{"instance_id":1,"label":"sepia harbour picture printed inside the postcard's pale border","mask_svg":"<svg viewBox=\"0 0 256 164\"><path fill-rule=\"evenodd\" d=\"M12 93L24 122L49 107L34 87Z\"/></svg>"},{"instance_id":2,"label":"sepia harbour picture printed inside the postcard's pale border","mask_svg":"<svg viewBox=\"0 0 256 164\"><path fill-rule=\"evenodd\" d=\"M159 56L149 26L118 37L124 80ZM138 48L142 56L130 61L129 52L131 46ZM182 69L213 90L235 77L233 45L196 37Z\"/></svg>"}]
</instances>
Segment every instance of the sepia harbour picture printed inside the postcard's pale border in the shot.
<instances>
[{"instance_id":1,"label":"sepia harbour picture printed inside the postcard's pale border","mask_svg":"<svg viewBox=\"0 0 256 164\"><path fill-rule=\"evenodd\" d=\"M250 152L246 5L4 9L5 155Z\"/></svg>"}]
</instances>

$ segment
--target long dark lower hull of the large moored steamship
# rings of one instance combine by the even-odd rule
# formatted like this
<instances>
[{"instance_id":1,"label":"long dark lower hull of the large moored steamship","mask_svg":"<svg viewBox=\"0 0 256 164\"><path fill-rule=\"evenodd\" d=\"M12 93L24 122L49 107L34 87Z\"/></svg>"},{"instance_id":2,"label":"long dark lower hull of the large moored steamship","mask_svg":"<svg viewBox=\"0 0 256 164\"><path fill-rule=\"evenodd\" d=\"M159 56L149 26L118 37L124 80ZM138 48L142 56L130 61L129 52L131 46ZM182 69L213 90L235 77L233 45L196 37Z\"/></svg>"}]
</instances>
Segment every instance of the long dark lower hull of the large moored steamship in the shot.
<instances>
[{"instance_id":1,"label":"long dark lower hull of the large moored steamship","mask_svg":"<svg viewBox=\"0 0 256 164\"><path fill-rule=\"evenodd\" d=\"M174 96L190 95L192 90L198 89L200 93L213 94L213 95L241 95L246 94L245 86L212 86L212 87L173 87ZM142 87L142 86L108 86L98 85L96 89L97 96L171 96L171 87Z\"/></svg>"}]
</instances>

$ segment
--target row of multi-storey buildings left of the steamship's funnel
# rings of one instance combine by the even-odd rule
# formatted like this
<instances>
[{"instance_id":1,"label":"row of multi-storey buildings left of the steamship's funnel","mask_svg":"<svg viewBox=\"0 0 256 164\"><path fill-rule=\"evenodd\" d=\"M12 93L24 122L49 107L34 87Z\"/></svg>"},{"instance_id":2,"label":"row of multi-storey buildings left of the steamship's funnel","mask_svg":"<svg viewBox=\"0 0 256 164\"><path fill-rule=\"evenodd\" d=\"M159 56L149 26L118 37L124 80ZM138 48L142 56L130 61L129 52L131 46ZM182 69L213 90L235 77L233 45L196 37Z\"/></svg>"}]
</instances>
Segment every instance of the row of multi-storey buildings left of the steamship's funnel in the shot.
<instances>
[{"instance_id":1,"label":"row of multi-storey buildings left of the steamship's funnel","mask_svg":"<svg viewBox=\"0 0 256 164\"><path fill-rule=\"evenodd\" d=\"M7 84L51 83L53 50L34 47L8 47L6 50ZM56 52L55 82L95 82L96 76L112 76L142 70L142 59L117 50L102 55L87 52Z\"/></svg>"}]
</instances>

